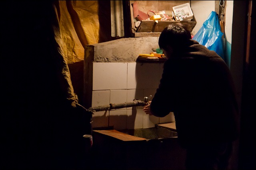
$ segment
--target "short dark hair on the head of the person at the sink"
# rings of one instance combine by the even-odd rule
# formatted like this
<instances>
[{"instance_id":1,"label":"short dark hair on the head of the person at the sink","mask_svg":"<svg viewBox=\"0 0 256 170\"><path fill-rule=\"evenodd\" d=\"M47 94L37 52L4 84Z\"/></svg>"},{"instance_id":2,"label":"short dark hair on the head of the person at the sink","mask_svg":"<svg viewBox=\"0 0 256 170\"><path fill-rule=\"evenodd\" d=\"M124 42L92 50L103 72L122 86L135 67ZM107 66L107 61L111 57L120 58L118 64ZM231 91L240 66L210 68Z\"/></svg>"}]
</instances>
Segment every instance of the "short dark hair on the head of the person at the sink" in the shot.
<instances>
[{"instance_id":1,"label":"short dark hair on the head of the person at the sink","mask_svg":"<svg viewBox=\"0 0 256 170\"><path fill-rule=\"evenodd\" d=\"M180 22L170 24L160 34L158 45L160 49L167 49L167 45L172 48L181 49L182 46L188 45L188 40L191 39L191 33L186 26Z\"/></svg>"}]
</instances>

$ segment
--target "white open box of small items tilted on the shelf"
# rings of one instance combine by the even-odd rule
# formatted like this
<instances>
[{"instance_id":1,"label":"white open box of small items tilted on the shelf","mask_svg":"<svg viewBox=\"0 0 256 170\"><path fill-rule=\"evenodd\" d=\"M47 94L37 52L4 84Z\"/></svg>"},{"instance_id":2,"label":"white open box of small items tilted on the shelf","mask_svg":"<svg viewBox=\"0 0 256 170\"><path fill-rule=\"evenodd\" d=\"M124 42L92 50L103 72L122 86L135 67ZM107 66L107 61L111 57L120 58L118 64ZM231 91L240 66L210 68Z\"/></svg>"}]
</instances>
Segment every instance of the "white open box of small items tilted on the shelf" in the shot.
<instances>
[{"instance_id":1,"label":"white open box of small items tilted on the shelf","mask_svg":"<svg viewBox=\"0 0 256 170\"><path fill-rule=\"evenodd\" d=\"M189 3L174 6L172 9L177 21L191 21L193 19L193 12Z\"/></svg>"}]
</instances>

